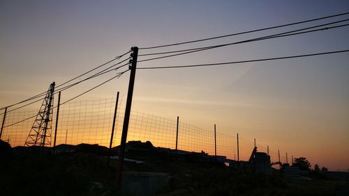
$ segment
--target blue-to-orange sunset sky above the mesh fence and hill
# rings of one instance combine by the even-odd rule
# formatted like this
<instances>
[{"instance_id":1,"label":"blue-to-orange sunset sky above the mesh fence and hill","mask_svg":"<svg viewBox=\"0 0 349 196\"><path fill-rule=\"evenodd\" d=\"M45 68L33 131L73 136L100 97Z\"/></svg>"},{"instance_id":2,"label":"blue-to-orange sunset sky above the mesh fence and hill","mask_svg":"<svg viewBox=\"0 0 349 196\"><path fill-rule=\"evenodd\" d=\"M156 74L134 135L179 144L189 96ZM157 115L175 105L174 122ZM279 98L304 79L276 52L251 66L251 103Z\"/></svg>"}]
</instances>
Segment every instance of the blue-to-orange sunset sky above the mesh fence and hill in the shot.
<instances>
[{"instance_id":1,"label":"blue-to-orange sunset sky above the mesh fence and hill","mask_svg":"<svg viewBox=\"0 0 349 196\"><path fill-rule=\"evenodd\" d=\"M37 95L131 47L210 38L325 17L349 1L3 1L0 107ZM205 47L348 19L348 15L139 54ZM348 22L347 22L348 23ZM349 27L275 38L138 63L138 67L221 63L349 49ZM140 56L139 60L147 56ZM349 55L331 54L186 69L137 70L133 111L181 120L349 168ZM106 74L62 93L68 100ZM126 99L129 72L81 99ZM252 139L251 139L252 140Z\"/></svg>"}]
</instances>

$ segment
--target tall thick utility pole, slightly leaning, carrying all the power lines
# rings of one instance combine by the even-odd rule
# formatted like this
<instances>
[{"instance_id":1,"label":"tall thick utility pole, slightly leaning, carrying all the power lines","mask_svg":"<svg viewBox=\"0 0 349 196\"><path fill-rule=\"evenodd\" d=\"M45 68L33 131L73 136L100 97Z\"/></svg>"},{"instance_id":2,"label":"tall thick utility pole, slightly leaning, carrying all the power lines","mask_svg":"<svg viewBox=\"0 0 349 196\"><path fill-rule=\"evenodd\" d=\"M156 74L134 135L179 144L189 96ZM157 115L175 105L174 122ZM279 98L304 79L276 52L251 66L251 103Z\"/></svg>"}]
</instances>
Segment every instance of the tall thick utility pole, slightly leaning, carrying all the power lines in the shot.
<instances>
[{"instance_id":1,"label":"tall thick utility pole, slightly leaning, carrying all the power lines","mask_svg":"<svg viewBox=\"0 0 349 196\"><path fill-rule=\"evenodd\" d=\"M138 57L138 47L132 47L131 50L133 51L133 53L131 54L131 57L132 57L131 66L128 67L131 70L131 74L130 74L130 81L128 83L124 125L122 127L121 144L119 149L119 160L117 161L117 186L121 185L122 165L124 162L128 123L130 122L133 86L135 84L135 70L137 66L137 57Z\"/></svg>"}]
</instances>

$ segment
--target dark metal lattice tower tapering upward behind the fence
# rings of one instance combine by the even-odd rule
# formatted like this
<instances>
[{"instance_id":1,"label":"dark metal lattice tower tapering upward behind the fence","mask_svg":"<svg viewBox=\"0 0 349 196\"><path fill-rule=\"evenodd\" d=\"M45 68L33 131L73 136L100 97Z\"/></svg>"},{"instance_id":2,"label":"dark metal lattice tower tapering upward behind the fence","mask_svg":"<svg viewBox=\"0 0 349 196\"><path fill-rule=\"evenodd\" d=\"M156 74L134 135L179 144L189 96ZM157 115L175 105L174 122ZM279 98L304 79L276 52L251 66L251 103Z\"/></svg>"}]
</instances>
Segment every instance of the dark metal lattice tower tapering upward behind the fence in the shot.
<instances>
[{"instance_id":1,"label":"dark metal lattice tower tapering upward behind the fence","mask_svg":"<svg viewBox=\"0 0 349 196\"><path fill-rule=\"evenodd\" d=\"M43 104L41 104L40 111L36 115L24 146L44 147L45 145L51 145L54 85L55 83L53 82L49 90L47 90Z\"/></svg>"}]
</instances>

